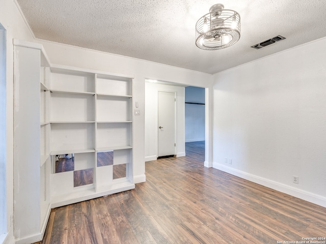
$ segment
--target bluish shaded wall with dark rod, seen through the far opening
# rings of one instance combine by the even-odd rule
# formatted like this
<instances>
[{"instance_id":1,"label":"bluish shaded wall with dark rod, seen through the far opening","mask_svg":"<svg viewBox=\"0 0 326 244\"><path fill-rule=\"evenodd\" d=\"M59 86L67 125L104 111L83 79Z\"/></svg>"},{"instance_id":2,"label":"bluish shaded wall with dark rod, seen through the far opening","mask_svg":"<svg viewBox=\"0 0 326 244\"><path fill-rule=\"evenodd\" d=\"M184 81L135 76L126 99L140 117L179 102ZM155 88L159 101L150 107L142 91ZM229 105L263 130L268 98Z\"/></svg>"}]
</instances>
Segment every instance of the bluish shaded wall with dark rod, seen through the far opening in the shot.
<instances>
[{"instance_id":1,"label":"bluish shaded wall with dark rod, seen through the far opening","mask_svg":"<svg viewBox=\"0 0 326 244\"><path fill-rule=\"evenodd\" d=\"M185 87L185 142L205 140L205 89ZM192 104L198 103L198 104Z\"/></svg>"}]
</instances>

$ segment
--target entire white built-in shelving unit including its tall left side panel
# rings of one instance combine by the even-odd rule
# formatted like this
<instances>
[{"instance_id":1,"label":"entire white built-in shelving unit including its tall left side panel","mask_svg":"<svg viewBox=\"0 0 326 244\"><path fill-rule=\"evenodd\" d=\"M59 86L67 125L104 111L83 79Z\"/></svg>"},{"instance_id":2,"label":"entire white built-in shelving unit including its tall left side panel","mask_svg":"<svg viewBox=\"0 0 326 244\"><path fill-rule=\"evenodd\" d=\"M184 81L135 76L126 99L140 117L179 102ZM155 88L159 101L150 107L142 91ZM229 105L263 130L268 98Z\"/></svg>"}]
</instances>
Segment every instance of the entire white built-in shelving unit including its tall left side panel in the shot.
<instances>
[{"instance_id":1,"label":"entire white built-in shelving unit including its tall left side panel","mask_svg":"<svg viewBox=\"0 0 326 244\"><path fill-rule=\"evenodd\" d=\"M134 188L133 77L51 65L41 45L14 46L15 230L31 243L51 208Z\"/></svg>"}]
</instances>

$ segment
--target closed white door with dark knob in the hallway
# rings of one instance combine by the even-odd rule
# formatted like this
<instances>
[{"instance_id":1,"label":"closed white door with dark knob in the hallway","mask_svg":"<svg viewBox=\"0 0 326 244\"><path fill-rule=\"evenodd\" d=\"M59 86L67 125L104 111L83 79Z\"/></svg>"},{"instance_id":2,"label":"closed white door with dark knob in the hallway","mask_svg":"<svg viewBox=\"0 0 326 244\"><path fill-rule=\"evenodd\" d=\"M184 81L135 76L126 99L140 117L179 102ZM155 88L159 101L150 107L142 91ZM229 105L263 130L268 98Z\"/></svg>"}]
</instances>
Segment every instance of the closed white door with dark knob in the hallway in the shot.
<instances>
[{"instance_id":1,"label":"closed white door with dark knob in the hallway","mask_svg":"<svg viewBox=\"0 0 326 244\"><path fill-rule=\"evenodd\" d=\"M158 157L175 155L175 94L158 92Z\"/></svg>"}]
</instances>

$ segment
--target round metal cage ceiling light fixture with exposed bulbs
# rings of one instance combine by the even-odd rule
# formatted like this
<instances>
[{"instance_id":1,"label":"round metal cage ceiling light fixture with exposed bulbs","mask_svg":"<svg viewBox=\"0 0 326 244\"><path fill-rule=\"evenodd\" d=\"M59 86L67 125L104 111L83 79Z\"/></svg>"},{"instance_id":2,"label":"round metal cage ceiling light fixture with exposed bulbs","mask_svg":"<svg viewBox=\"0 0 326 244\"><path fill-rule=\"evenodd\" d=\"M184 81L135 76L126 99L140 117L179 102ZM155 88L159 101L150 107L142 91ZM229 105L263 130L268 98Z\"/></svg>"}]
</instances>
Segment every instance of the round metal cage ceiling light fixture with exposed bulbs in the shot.
<instances>
[{"instance_id":1,"label":"round metal cage ceiling light fixture with exposed bulbs","mask_svg":"<svg viewBox=\"0 0 326 244\"><path fill-rule=\"evenodd\" d=\"M196 46L217 50L232 46L240 39L240 15L215 4L196 23Z\"/></svg>"}]
</instances>

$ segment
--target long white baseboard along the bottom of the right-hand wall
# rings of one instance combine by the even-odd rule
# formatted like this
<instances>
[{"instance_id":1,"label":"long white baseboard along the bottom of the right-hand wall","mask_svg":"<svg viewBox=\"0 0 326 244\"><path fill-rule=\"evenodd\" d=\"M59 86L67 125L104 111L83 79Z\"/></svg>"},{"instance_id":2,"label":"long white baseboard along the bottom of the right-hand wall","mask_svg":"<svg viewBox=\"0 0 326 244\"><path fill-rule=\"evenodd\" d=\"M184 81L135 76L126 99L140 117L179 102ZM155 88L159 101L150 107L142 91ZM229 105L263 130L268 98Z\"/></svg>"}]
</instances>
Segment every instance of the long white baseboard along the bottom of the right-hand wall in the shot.
<instances>
[{"instance_id":1,"label":"long white baseboard along the bottom of the right-hand wall","mask_svg":"<svg viewBox=\"0 0 326 244\"><path fill-rule=\"evenodd\" d=\"M319 195L316 195L314 193L307 192L304 190L300 190L300 189L282 184L282 183L274 181L274 180L266 179L266 178L263 178L263 177L260 177L257 175L253 175L253 174L243 172L243 171L240 171L240 170L237 170L234 168L230 168L223 164L213 162L212 166L215 169L219 169L221 171L227 172L229 174L233 174L233 175L241 177L243 179L250 180L259 185L286 193L288 195L306 200L308 202L312 202L312 203L320 205L322 207L326 207L326 197L319 196Z\"/></svg>"}]
</instances>

